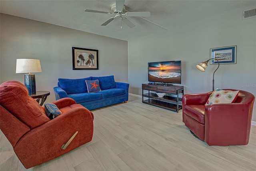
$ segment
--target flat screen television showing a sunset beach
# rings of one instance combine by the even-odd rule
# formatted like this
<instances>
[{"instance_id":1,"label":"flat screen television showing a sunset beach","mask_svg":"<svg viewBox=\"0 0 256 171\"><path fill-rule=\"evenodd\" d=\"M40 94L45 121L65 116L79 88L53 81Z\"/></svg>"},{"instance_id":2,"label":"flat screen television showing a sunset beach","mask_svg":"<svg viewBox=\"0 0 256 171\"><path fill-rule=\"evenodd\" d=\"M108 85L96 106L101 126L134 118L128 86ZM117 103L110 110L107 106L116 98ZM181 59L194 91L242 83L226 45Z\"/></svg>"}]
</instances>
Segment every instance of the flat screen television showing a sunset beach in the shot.
<instances>
[{"instance_id":1,"label":"flat screen television showing a sunset beach","mask_svg":"<svg viewBox=\"0 0 256 171\"><path fill-rule=\"evenodd\" d=\"M148 62L148 81L181 84L181 61Z\"/></svg>"}]
</instances>

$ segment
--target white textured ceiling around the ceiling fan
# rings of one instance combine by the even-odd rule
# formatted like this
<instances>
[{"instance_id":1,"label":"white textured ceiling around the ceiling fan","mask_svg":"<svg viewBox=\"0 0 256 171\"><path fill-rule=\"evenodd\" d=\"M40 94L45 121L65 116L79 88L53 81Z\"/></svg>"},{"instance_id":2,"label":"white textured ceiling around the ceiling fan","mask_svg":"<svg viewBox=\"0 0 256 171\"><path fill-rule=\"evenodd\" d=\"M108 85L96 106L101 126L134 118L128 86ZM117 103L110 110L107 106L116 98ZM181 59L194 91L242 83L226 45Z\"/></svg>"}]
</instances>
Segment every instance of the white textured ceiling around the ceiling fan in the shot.
<instances>
[{"instance_id":1,"label":"white textured ceiling around the ceiling fan","mask_svg":"<svg viewBox=\"0 0 256 171\"><path fill-rule=\"evenodd\" d=\"M149 11L147 20L127 17L136 26L129 28L120 18L100 26L111 14L84 12L84 9L111 11L115 0L0 0L0 12L90 32L121 40L132 40L158 32L172 30L190 22L218 15L229 10L256 6L256 0L126 0L130 12ZM242 20L242 10L241 10ZM166 30L167 29L167 30Z\"/></svg>"}]
</instances>

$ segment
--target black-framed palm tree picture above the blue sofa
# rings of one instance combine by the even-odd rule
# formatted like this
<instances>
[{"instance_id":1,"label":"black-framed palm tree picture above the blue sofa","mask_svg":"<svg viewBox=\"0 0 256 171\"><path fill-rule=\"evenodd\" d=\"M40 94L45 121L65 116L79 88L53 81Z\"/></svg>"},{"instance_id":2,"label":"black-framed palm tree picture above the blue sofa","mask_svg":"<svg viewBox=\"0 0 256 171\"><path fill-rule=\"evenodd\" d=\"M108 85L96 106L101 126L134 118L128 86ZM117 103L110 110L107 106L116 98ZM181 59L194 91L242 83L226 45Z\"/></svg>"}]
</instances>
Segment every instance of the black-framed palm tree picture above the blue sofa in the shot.
<instances>
[{"instance_id":1,"label":"black-framed palm tree picture above the blue sofa","mask_svg":"<svg viewBox=\"0 0 256 171\"><path fill-rule=\"evenodd\" d=\"M98 58L98 50L72 47L73 70L98 70Z\"/></svg>"}]
</instances>

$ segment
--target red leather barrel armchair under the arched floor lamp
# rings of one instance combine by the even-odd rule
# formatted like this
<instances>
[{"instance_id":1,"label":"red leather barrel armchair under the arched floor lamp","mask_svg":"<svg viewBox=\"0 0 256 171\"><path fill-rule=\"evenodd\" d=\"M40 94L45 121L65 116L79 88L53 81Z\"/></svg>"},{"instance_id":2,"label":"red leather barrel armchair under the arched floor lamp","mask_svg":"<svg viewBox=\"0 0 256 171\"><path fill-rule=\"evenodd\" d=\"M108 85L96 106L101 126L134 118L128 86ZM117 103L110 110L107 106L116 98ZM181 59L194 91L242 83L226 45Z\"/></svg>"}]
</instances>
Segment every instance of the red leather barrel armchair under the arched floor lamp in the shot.
<instances>
[{"instance_id":1,"label":"red leather barrel armchair under the arched floor lamp","mask_svg":"<svg viewBox=\"0 0 256 171\"><path fill-rule=\"evenodd\" d=\"M254 95L240 90L234 103L205 106L211 93L182 97L182 121L186 127L208 145L247 145Z\"/></svg>"}]
</instances>

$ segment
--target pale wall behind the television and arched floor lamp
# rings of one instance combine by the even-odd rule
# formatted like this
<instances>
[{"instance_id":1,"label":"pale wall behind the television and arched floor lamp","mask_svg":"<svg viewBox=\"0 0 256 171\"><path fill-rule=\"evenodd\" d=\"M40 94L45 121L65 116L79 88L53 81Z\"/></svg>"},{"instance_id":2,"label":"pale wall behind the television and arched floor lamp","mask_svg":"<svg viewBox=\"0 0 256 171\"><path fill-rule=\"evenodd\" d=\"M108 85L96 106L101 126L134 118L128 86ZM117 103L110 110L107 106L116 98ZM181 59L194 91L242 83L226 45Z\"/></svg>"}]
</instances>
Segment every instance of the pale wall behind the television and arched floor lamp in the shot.
<instances>
[{"instance_id":1,"label":"pale wall behind the television and arched floor lamp","mask_svg":"<svg viewBox=\"0 0 256 171\"><path fill-rule=\"evenodd\" d=\"M148 81L148 62L170 60L182 60L185 93L212 91L217 66L208 65L200 72L196 64L210 59L210 48L233 45L237 46L236 64L220 65L214 76L215 88L242 89L256 96L256 18L242 20L242 9L129 41L130 93L142 94L141 84ZM256 103L252 120L256 121Z\"/></svg>"}]
</instances>

